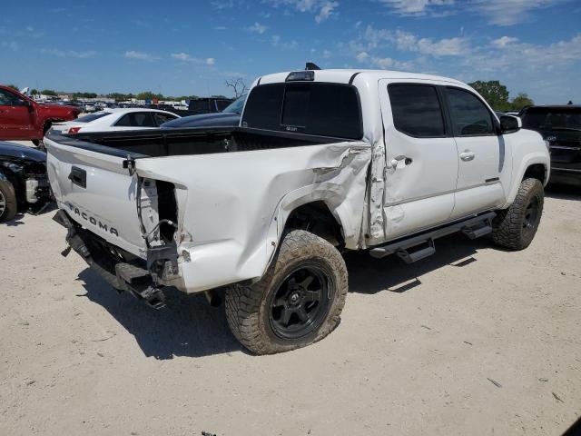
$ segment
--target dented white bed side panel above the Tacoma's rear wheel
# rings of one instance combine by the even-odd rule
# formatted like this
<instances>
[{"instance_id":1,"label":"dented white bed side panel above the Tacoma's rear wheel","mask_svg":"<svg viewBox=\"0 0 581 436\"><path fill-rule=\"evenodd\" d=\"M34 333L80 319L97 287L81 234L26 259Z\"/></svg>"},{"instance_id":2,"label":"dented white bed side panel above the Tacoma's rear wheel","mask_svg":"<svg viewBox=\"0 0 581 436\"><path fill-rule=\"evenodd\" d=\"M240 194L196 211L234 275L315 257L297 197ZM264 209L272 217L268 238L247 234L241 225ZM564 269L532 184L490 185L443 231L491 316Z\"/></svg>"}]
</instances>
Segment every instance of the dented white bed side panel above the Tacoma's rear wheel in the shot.
<instances>
[{"instance_id":1,"label":"dented white bed side panel above the Tacoma's rear wheel","mask_svg":"<svg viewBox=\"0 0 581 436\"><path fill-rule=\"evenodd\" d=\"M313 201L329 206L347 246L357 248L370 148L341 142L138 160L137 173L174 183L182 205L182 280L173 284L199 292L260 277L289 214Z\"/></svg>"}]
</instances>

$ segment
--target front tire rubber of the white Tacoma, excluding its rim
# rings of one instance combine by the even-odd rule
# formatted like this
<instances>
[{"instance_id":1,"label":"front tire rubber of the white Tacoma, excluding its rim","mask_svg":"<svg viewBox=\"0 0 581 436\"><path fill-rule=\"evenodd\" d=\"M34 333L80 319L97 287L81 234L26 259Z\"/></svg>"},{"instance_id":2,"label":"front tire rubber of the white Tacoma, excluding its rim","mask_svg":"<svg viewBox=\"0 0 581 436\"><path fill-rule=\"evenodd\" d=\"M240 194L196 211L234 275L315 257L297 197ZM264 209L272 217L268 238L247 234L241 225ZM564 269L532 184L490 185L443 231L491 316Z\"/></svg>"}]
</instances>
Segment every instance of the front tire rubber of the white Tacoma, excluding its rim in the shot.
<instances>
[{"instance_id":1,"label":"front tire rubber of the white Tacoma, excluding its rim","mask_svg":"<svg viewBox=\"0 0 581 436\"><path fill-rule=\"evenodd\" d=\"M530 245L537 233L538 224L543 213L544 203L543 183L537 179L525 179L520 183L517 198L508 209L497 211L492 221L492 239L497 245L510 250L523 250ZM526 232L527 207L531 202L537 202L537 217Z\"/></svg>"}]
</instances>

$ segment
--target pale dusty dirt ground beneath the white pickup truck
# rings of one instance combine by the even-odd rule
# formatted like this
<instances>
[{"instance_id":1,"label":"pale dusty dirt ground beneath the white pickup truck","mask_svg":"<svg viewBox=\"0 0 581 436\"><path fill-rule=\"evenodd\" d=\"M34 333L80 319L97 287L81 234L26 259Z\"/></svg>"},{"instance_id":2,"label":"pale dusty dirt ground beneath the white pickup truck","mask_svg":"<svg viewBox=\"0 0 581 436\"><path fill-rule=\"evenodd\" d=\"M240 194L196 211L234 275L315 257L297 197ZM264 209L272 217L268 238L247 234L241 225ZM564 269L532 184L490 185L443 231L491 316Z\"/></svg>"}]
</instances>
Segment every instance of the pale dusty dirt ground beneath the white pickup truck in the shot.
<instances>
[{"instance_id":1,"label":"pale dusty dirt ground beneath the white pickup truck","mask_svg":"<svg viewBox=\"0 0 581 436\"><path fill-rule=\"evenodd\" d=\"M201 295L118 295L60 255L53 214L0 224L0 434L557 435L581 414L581 193L547 194L524 252L351 253L338 329L264 357Z\"/></svg>"}]
</instances>

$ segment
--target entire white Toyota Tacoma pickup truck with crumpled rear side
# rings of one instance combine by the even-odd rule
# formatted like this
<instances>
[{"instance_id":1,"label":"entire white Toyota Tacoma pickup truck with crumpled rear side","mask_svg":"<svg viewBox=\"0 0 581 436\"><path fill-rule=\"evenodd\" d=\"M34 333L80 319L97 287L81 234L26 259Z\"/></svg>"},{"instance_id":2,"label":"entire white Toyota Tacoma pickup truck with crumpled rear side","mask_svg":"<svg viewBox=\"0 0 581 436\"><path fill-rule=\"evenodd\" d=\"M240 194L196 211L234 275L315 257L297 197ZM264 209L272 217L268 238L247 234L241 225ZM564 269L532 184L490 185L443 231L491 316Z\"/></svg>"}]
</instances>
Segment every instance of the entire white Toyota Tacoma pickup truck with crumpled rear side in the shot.
<instances>
[{"instance_id":1,"label":"entire white Toyota Tacoma pickup truck with crumpled rear side","mask_svg":"<svg viewBox=\"0 0 581 436\"><path fill-rule=\"evenodd\" d=\"M235 128L44 144L75 252L155 307L164 286L209 299L226 286L231 331L258 354L334 329L342 252L411 263L454 232L526 248L550 168L540 134L468 85L390 71L264 75Z\"/></svg>"}]
</instances>

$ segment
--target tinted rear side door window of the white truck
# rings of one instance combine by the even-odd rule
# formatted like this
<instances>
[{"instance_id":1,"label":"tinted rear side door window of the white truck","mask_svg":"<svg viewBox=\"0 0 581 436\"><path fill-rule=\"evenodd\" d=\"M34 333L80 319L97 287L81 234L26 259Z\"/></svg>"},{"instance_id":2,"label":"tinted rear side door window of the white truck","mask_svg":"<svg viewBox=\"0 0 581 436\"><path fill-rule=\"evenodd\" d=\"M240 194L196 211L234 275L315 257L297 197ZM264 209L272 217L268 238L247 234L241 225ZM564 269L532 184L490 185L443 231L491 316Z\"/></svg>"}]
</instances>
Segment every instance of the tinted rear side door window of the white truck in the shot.
<instances>
[{"instance_id":1,"label":"tinted rear side door window of the white truck","mask_svg":"<svg viewBox=\"0 0 581 436\"><path fill-rule=\"evenodd\" d=\"M403 134L416 138L445 135L444 116L435 86L389 84L393 124Z\"/></svg>"}]
</instances>

